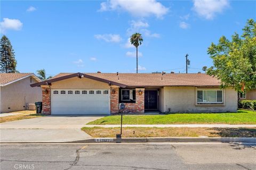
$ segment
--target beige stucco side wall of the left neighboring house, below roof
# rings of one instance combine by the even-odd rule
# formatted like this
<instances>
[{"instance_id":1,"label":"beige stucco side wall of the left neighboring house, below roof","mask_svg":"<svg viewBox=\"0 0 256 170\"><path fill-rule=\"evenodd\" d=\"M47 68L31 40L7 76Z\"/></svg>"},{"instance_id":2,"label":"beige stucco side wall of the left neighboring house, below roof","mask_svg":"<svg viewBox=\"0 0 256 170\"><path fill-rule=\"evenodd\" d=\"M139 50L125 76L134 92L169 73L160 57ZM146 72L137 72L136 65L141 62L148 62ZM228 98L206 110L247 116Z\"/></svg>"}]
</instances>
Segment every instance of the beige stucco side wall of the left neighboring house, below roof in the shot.
<instances>
[{"instance_id":1,"label":"beige stucco side wall of the left neighboring house, below roof","mask_svg":"<svg viewBox=\"0 0 256 170\"><path fill-rule=\"evenodd\" d=\"M26 104L42 101L41 87L30 87L37 81L30 77L1 87L1 113L22 111ZM25 107L24 107L25 106ZM10 107L10 109L9 109Z\"/></svg>"}]
</instances>

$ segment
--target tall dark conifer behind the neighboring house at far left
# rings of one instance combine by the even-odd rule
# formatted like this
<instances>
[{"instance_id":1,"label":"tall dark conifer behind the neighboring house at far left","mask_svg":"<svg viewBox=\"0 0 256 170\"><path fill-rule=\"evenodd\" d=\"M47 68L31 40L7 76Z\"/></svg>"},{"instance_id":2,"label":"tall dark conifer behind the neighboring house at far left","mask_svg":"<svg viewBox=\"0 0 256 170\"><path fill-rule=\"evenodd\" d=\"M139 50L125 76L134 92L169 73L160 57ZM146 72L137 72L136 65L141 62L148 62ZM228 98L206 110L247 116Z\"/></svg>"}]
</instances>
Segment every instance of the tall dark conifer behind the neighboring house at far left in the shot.
<instances>
[{"instance_id":1,"label":"tall dark conifer behind the neighboring house at far left","mask_svg":"<svg viewBox=\"0 0 256 170\"><path fill-rule=\"evenodd\" d=\"M17 61L15 60L10 40L6 36L3 36L0 41L0 46L0 72L15 73Z\"/></svg>"}]
</instances>

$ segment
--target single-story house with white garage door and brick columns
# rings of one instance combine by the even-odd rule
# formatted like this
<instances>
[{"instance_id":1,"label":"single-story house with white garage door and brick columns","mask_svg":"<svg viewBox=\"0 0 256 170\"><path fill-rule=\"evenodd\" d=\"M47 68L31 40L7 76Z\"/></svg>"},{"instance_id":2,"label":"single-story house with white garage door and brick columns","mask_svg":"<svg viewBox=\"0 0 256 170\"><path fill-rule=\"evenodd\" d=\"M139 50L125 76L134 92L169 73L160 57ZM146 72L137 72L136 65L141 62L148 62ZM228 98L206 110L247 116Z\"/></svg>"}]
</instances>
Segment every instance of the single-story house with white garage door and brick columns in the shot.
<instances>
[{"instance_id":1,"label":"single-story house with white garage door and brick columns","mask_svg":"<svg viewBox=\"0 0 256 170\"><path fill-rule=\"evenodd\" d=\"M43 114L236 112L237 92L207 74L60 73L41 87Z\"/></svg>"}]
</instances>

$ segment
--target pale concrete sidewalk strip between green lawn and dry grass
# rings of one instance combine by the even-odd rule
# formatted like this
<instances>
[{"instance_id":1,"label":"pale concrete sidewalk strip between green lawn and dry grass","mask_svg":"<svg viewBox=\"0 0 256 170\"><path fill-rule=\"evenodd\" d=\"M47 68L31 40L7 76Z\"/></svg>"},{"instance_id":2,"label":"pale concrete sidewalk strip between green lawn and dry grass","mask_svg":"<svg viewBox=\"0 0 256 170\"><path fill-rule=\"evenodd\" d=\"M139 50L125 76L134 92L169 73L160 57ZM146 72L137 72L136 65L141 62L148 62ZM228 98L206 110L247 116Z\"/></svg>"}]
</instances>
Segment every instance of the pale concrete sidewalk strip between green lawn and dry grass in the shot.
<instances>
[{"instance_id":1,"label":"pale concrete sidewalk strip between green lawn and dry grass","mask_svg":"<svg viewBox=\"0 0 256 170\"><path fill-rule=\"evenodd\" d=\"M84 125L86 128L119 128L120 124ZM256 124L123 124L123 127L142 128L256 128Z\"/></svg>"}]
</instances>

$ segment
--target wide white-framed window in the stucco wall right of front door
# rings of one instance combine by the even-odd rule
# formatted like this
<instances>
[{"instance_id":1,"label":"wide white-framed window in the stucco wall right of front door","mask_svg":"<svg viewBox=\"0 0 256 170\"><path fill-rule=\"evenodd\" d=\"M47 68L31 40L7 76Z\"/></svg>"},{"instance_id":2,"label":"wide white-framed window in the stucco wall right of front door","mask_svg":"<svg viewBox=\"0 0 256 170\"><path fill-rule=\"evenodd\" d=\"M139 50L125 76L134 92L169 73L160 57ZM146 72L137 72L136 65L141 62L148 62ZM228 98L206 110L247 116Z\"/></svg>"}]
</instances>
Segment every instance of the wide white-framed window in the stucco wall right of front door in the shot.
<instances>
[{"instance_id":1,"label":"wide white-framed window in the stucco wall right of front door","mask_svg":"<svg viewBox=\"0 0 256 170\"><path fill-rule=\"evenodd\" d=\"M197 90L198 104L223 103L222 90Z\"/></svg>"}]
</instances>

